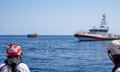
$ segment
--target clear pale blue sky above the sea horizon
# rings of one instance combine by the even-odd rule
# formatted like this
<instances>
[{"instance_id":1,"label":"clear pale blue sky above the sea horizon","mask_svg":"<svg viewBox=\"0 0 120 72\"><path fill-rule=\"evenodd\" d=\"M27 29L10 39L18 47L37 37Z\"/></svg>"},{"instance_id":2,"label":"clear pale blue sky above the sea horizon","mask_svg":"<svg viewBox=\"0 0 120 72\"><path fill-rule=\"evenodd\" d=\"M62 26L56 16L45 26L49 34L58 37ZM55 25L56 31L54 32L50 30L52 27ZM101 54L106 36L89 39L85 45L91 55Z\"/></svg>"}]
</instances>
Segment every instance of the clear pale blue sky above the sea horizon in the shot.
<instances>
[{"instance_id":1,"label":"clear pale blue sky above the sea horizon","mask_svg":"<svg viewBox=\"0 0 120 72\"><path fill-rule=\"evenodd\" d=\"M0 35L73 35L99 26L120 34L120 0L0 0Z\"/></svg>"}]
</instances>

